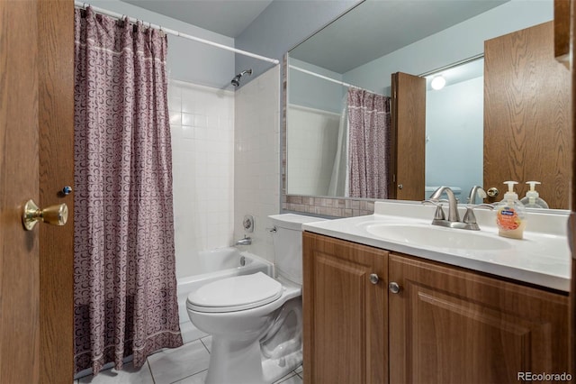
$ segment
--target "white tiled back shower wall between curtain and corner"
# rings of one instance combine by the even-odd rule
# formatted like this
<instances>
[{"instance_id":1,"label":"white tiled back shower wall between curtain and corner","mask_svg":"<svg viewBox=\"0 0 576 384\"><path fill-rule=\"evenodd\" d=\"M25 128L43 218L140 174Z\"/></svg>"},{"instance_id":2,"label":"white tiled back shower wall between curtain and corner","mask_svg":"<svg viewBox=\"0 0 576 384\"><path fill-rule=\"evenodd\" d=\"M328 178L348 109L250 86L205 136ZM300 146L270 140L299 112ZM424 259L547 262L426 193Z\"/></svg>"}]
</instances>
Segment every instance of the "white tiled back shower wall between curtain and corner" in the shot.
<instances>
[{"instance_id":1,"label":"white tiled back shower wall between curtain and corner","mask_svg":"<svg viewBox=\"0 0 576 384\"><path fill-rule=\"evenodd\" d=\"M198 251L231 244L234 93L171 80L176 278L198 273Z\"/></svg>"}]
</instances>

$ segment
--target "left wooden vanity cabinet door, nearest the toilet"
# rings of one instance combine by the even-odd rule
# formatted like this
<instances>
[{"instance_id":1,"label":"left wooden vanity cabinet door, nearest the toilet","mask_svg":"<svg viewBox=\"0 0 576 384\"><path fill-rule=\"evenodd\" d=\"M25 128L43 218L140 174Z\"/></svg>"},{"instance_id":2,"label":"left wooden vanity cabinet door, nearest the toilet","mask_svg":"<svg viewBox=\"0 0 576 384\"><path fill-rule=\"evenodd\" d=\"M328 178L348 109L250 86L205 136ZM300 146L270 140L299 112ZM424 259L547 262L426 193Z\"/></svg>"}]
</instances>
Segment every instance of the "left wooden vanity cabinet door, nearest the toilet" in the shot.
<instances>
[{"instance_id":1,"label":"left wooden vanity cabinet door, nearest the toilet","mask_svg":"<svg viewBox=\"0 0 576 384\"><path fill-rule=\"evenodd\" d=\"M387 255L303 234L305 383L388 382Z\"/></svg>"}]
</instances>

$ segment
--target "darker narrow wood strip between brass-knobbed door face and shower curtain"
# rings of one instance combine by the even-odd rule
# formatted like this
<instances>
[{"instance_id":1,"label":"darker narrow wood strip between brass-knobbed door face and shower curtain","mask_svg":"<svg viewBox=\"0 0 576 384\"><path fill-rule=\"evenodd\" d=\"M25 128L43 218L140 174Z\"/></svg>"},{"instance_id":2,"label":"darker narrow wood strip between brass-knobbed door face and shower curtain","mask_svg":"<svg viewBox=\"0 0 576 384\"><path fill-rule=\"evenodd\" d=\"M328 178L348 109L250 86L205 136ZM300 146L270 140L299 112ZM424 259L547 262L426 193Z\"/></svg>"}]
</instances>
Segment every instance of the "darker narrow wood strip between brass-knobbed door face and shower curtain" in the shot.
<instances>
[{"instance_id":1,"label":"darker narrow wood strip between brass-knobbed door face and shower curtain","mask_svg":"<svg viewBox=\"0 0 576 384\"><path fill-rule=\"evenodd\" d=\"M41 207L66 203L65 226L41 224L40 382L74 375L74 3L40 0L39 131Z\"/></svg>"}]
</instances>

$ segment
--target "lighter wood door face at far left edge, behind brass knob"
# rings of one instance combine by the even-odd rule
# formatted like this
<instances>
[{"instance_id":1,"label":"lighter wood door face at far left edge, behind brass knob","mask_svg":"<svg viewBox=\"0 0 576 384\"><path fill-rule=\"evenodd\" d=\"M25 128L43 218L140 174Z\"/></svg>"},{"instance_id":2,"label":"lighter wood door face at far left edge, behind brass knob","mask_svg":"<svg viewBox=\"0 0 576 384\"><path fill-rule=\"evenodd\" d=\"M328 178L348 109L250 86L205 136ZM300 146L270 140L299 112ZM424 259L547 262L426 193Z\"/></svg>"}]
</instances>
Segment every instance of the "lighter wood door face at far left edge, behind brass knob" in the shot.
<instances>
[{"instance_id":1,"label":"lighter wood door face at far left edge, behind brass knob","mask_svg":"<svg viewBox=\"0 0 576 384\"><path fill-rule=\"evenodd\" d=\"M34 0L0 1L0 382L40 378L38 234L22 224L39 197L38 49Z\"/></svg>"}]
</instances>

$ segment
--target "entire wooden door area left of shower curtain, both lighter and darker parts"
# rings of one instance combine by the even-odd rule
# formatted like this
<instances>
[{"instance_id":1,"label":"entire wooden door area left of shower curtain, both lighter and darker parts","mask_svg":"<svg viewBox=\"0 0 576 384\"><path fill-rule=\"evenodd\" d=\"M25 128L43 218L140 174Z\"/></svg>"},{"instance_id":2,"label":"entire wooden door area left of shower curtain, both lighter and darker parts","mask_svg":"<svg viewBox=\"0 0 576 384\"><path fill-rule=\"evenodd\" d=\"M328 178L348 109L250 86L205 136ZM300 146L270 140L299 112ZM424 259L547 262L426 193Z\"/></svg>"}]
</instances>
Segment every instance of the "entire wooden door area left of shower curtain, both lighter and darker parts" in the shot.
<instances>
[{"instance_id":1,"label":"entire wooden door area left of shower curtain, both lighter and darker parts","mask_svg":"<svg viewBox=\"0 0 576 384\"><path fill-rule=\"evenodd\" d=\"M46 224L24 231L21 219L28 199L41 207L61 202L47 184L53 175L73 185L73 7L69 0L0 0L3 383L69 382L73 375L72 224L58 227L65 234L56 237Z\"/></svg>"}]
</instances>

